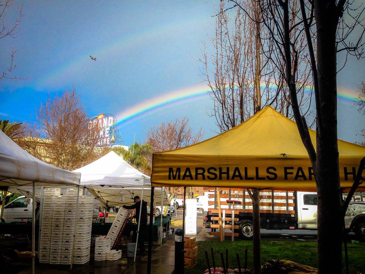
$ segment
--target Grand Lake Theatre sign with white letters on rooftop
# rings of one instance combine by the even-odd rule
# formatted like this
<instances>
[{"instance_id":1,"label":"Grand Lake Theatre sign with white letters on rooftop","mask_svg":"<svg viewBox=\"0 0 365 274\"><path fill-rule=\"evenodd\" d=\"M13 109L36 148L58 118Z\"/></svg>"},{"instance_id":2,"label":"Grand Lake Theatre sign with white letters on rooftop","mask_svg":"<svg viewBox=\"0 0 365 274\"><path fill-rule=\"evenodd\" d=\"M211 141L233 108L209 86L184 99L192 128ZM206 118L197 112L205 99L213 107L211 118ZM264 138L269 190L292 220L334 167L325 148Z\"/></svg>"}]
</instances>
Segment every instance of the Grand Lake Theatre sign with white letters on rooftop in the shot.
<instances>
[{"instance_id":1,"label":"Grand Lake Theatre sign with white letters on rooftop","mask_svg":"<svg viewBox=\"0 0 365 274\"><path fill-rule=\"evenodd\" d=\"M98 128L97 133L95 133L97 146L114 145L122 141L116 122L114 115L104 113L90 119L89 130Z\"/></svg>"}]
</instances>

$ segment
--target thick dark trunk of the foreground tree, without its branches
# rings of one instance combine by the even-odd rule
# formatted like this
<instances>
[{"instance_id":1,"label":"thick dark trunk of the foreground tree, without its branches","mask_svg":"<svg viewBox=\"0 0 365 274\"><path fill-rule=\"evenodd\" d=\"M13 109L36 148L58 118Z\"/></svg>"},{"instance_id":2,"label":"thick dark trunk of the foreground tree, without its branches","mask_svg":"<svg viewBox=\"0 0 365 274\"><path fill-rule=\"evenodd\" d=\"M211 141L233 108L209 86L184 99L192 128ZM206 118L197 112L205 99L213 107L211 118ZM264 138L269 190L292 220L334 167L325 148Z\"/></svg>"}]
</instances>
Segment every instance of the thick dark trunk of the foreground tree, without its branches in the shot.
<instances>
[{"instance_id":1,"label":"thick dark trunk of the foreground tree, without its branches","mask_svg":"<svg viewBox=\"0 0 365 274\"><path fill-rule=\"evenodd\" d=\"M338 11L335 1L315 0L314 7L320 106L317 109L317 151L314 166L318 193L318 273L341 273L343 218L337 146L335 40Z\"/></svg>"}]
</instances>

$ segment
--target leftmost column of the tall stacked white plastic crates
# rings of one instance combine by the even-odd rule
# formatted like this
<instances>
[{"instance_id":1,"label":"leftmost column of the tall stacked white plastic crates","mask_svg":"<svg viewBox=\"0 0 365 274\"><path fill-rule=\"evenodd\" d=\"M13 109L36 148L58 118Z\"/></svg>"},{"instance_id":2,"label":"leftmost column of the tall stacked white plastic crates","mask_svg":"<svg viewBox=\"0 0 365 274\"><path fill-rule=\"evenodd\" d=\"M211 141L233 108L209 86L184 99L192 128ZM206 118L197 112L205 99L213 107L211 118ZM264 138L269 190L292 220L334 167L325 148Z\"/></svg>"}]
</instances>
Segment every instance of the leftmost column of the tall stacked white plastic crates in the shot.
<instances>
[{"instance_id":1,"label":"leftmost column of the tall stacked white plastic crates","mask_svg":"<svg viewBox=\"0 0 365 274\"><path fill-rule=\"evenodd\" d=\"M49 263L51 250L51 236L53 227L53 208L55 196L61 189L45 189L43 192L41 239L39 242L38 258L41 263Z\"/></svg>"}]
</instances>

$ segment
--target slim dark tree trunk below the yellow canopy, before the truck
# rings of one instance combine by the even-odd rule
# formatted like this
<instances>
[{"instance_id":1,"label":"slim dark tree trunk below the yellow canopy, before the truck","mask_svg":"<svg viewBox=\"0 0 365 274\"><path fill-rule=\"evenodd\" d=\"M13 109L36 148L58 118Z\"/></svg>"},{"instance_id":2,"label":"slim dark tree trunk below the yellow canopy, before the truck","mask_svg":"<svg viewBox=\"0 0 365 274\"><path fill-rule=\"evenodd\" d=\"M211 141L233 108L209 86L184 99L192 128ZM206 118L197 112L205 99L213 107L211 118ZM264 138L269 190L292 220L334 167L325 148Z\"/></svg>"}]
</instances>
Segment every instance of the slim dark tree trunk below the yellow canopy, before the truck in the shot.
<instances>
[{"instance_id":1,"label":"slim dark tree trunk below the yellow canopy, before the truck","mask_svg":"<svg viewBox=\"0 0 365 274\"><path fill-rule=\"evenodd\" d=\"M260 235L260 191L252 191L253 209L253 273L261 273L261 235Z\"/></svg>"}]
</instances>

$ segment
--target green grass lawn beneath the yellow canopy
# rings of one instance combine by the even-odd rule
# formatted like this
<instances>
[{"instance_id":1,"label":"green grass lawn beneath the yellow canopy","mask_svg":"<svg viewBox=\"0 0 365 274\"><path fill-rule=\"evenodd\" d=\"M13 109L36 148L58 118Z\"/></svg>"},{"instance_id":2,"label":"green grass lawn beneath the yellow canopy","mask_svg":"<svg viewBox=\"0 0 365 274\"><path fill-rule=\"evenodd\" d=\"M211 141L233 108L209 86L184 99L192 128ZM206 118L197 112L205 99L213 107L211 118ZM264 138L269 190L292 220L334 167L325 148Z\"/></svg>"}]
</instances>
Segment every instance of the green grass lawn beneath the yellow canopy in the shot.
<instances>
[{"instance_id":1,"label":"green grass lawn beneath the yellow canopy","mask_svg":"<svg viewBox=\"0 0 365 274\"><path fill-rule=\"evenodd\" d=\"M237 268L236 253L239 254L241 267L245 262L245 249L247 248L247 267L252 268L252 241L198 241L198 255L196 258L196 267L192 270L185 270L184 273L203 273L207 269L205 251L208 251L210 264L212 267L211 251L214 249L216 266L221 266L220 253L226 258L226 249L228 249L228 267ZM365 243L348 243L350 272L365 271ZM343 252L343 269L345 270L345 254ZM317 242L315 241L271 241L261 239L261 265L265 264L265 259L285 259L291 260L302 265L317 267ZM345 272L344 272L345 273Z\"/></svg>"}]
</instances>

